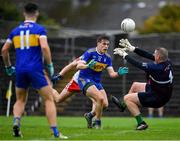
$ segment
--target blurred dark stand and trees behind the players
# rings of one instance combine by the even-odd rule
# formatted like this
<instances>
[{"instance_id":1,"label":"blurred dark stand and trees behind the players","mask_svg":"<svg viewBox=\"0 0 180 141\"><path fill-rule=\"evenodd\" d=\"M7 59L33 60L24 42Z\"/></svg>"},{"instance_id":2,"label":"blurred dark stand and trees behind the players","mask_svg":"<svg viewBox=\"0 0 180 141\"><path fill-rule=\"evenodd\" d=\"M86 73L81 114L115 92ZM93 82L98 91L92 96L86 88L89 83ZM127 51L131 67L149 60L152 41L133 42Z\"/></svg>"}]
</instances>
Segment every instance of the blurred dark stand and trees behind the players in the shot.
<instances>
[{"instance_id":1,"label":"blurred dark stand and trees behind the players","mask_svg":"<svg viewBox=\"0 0 180 141\"><path fill-rule=\"evenodd\" d=\"M113 56L113 49L121 38L129 38L133 45L153 52L163 46L169 50L169 58L174 65L174 90L170 102L165 106L164 116L180 115L180 1L179 0L0 0L0 46L2 47L12 28L23 21L23 6L27 2L35 2L40 7L38 23L48 31L48 41L52 51L55 71L58 73L72 59L80 56L85 50L96 45L98 35L110 37L109 54L113 58L115 70L119 66L129 67L126 76L109 79L103 74L103 86L107 94L121 97L126 94L133 81L145 81L143 71L127 64L122 58ZM132 18L136 22L136 30L126 34L120 29L124 18ZM133 54L132 54L133 55ZM134 56L136 57L136 56ZM143 58L138 60L148 61ZM11 61L15 62L14 49L11 50ZM9 81L13 80L10 113L15 102L14 78L5 75L2 57L0 56L0 115L7 110L6 91ZM74 72L54 87L61 92ZM44 114L41 97L30 89L25 115ZM59 115L81 116L90 111L91 102L82 94L75 94L63 103L57 104ZM144 116L147 108L142 109ZM106 116L130 116L121 113L109 101Z\"/></svg>"}]
</instances>

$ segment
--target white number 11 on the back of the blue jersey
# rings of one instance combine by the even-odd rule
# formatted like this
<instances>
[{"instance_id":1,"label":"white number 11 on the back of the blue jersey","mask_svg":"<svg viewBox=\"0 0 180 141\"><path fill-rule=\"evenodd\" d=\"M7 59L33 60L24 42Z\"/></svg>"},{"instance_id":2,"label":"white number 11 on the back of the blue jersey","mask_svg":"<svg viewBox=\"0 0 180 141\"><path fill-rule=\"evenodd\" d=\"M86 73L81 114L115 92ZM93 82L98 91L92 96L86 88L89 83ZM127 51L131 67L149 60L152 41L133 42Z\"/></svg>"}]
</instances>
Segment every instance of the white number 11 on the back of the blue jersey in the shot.
<instances>
[{"instance_id":1,"label":"white number 11 on the back of the blue jersey","mask_svg":"<svg viewBox=\"0 0 180 141\"><path fill-rule=\"evenodd\" d=\"M22 50L24 48L29 49L29 30L25 31L25 35L23 30L20 31L20 45Z\"/></svg>"}]
</instances>

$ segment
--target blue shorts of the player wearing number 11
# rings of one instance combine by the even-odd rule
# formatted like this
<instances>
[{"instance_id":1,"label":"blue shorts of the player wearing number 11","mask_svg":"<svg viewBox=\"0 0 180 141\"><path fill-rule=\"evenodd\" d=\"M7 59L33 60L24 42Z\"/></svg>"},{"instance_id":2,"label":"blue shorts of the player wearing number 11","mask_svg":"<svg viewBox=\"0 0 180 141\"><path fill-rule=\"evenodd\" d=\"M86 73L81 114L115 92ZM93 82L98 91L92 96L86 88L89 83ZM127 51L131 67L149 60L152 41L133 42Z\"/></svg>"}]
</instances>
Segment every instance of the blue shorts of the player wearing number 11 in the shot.
<instances>
[{"instance_id":1,"label":"blue shorts of the player wearing number 11","mask_svg":"<svg viewBox=\"0 0 180 141\"><path fill-rule=\"evenodd\" d=\"M30 85L35 89L41 89L48 85L43 70L16 71L16 87L27 89Z\"/></svg>"}]
</instances>

